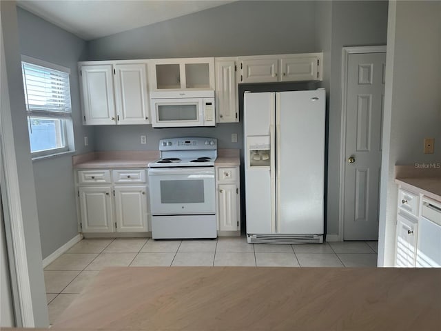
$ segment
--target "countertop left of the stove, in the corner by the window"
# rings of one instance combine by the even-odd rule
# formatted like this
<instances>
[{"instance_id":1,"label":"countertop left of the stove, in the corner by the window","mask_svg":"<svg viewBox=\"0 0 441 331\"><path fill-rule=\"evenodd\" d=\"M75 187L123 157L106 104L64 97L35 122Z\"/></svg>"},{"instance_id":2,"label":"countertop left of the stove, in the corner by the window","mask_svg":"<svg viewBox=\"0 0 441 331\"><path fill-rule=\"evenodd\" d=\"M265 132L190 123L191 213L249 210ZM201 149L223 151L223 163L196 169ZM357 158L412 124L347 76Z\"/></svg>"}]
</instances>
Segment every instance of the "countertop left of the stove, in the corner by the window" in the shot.
<instances>
[{"instance_id":1,"label":"countertop left of the stove, in the corner by the window","mask_svg":"<svg viewBox=\"0 0 441 331\"><path fill-rule=\"evenodd\" d=\"M72 165L75 169L147 168L158 158L156 150L90 152L72 157Z\"/></svg>"}]
</instances>

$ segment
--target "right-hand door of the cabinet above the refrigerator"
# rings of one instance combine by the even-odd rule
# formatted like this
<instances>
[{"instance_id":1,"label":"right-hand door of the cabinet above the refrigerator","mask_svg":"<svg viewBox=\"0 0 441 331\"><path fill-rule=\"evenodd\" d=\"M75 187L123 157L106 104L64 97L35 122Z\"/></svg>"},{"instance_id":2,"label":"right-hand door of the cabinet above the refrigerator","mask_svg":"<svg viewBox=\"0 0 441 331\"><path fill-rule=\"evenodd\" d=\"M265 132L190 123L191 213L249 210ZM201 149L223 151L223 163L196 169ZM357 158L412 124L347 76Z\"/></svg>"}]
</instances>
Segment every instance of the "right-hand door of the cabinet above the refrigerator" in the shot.
<instances>
[{"instance_id":1,"label":"right-hand door of the cabinet above the refrigerator","mask_svg":"<svg viewBox=\"0 0 441 331\"><path fill-rule=\"evenodd\" d=\"M280 60L280 81L318 80L318 57L292 57Z\"/></svg>"}]
</instances>

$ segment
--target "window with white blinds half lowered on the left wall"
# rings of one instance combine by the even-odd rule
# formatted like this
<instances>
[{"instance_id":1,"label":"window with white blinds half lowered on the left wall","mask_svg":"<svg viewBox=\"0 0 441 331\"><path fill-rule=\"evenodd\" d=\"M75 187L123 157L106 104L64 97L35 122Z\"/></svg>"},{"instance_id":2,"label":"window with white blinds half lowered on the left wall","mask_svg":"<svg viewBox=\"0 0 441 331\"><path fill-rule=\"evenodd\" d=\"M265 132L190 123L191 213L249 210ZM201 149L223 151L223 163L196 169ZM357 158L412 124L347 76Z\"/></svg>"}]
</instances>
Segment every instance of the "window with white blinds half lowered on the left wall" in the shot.
<instances>
[{"instance_id":1,"label":"window with white blinds half lowered on the left wall","mask_svg":"<svg viewBox=\"0 0 441 331\"><path fill-rule=\"evenodd\" d=\"M68 68L22 57L32 157L74 150Z\"/></svg>"}]
</instances>

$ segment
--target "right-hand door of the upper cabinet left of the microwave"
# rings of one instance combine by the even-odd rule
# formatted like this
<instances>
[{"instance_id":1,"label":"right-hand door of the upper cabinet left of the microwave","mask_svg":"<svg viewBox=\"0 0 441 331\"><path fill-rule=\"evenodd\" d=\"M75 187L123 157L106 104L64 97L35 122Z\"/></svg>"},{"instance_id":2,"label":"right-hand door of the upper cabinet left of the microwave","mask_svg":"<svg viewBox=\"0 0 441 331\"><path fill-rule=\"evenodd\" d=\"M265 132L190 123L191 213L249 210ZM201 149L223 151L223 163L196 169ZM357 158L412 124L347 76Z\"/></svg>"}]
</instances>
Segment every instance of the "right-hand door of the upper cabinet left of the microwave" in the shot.
<instances>
[{"instance_id":1,"label":"right-hand door of the upper cabinet left of the microwave","mask_svg":"<svg viewBox=\"0 0 441 331\"><path fill-rule=\"evenodd\" d=\"M145 64L116 64L114 69L118 124L150 124Z\"/></svg>"}]
</instances>

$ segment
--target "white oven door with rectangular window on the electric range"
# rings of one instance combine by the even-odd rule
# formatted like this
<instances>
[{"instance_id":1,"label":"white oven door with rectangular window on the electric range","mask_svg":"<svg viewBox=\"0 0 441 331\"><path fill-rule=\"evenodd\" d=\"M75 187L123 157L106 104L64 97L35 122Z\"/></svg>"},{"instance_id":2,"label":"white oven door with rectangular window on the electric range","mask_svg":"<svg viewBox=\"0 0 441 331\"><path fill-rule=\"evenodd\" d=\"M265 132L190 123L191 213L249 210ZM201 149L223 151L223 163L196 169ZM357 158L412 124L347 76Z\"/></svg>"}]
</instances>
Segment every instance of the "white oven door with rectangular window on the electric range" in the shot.
<instances>
[{"instance_id":1,"label":"white oven door with rectangular window on the electric range","mask_svg":"<svg viewBox=\"0 0 441 331\"><path fill-rule=\"evenodd\" d=\"M152 215L215 214L214 167L150 168Z\"/></svg>"}]
</instances>

